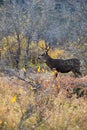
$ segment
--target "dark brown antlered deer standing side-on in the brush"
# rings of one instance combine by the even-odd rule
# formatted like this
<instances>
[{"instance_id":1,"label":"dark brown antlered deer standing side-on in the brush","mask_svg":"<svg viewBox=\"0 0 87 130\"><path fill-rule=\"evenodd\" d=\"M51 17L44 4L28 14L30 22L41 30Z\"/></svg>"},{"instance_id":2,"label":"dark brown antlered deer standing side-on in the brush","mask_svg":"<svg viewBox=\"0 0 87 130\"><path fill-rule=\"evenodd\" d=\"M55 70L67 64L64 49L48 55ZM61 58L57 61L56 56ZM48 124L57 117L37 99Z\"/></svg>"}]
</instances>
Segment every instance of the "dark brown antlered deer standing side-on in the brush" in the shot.
<instances>
[{"instance_id":1,"label":"dark brown antlered deer standing side-on in the brush","mask_svg":"<svg viewBox=\"0 0 87 130\"><path fill-rule=\"evenodd\" d=\"M43 48L42 48L43 49ZM43 60L50 69L55 69L57 72L68 73L72 71L77 77L81 76L80 72L80 60L77 58L72 59L53 59L49 56L48 51L50 47L46 44L45 52L38 57L38 59ZM55 74L57 77L58 73Z\"/></svg>"}]
</instances>

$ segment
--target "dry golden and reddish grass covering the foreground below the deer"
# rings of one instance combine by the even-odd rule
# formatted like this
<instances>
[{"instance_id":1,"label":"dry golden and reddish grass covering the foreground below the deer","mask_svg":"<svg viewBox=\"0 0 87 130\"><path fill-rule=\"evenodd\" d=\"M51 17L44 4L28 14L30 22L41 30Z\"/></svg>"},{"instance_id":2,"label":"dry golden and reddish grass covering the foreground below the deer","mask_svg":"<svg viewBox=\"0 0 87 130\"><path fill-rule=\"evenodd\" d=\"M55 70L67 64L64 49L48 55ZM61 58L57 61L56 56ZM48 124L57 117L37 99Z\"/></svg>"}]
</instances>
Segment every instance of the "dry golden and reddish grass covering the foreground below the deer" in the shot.
<instances>
[{"instance_id":1,"label":"dry golden and reddish grass covering the foreground below the deer","mask_svg":"<svg viewBox=\"0 0 87 130\"><path fill-rule=\"evenodd\" d=\"M42 88L33 91L29 84L0 77L0 130L18 130L21 117L30 105L37 106L23 122L23 130L87 130L87 98L67 98L66 88L87 84L87 76L73 78L37 74Z\"/></svg>"}]
</instances>

